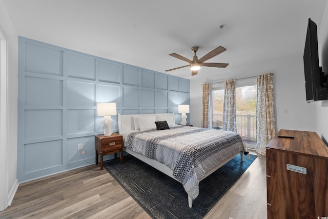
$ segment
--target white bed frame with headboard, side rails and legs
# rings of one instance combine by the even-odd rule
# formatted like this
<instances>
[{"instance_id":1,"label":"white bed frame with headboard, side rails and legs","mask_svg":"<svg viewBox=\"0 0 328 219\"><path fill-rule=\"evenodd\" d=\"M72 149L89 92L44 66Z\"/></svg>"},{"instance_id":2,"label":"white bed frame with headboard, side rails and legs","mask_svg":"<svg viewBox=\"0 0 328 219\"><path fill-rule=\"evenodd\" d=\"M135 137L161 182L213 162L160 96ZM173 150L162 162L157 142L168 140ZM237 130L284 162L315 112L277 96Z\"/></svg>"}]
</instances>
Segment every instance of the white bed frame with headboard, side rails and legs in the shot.
<instances>
[{"instance_id":1,"label":"white bed frame with headboard, side rails and legs","mask_svg":"<svg viewBox=\"0 0 328 219\"><path fill-rule=\"evenodd\" d=\"M156 115L156 114L130 114L130 115L121 115L120 113L118 113L118 130L120 134L124 134L128 131L132 130L132 116L147 116L147 115ZM173 117L173 122L175 124L175 119L174 119L174 113L160 113L157 115L172 115ZM142 154L136 153L128 148L123 148L126 152L128 152L129 154L131 154L132 156L138 158L139 160L145 162L146 164L154 167L155 169L161 171L162 173L165 173L166 175L174 178L174 180L177 181L177 179L173 176L173 171L166 165L159 163L158 161L152 160ZM239 153L239 152L238 152ZM228 163L230 160L232 160L232 158L234 158L238 153L234 154L232 157L229 157L226 161L222 162L220 165L218 165L217 167L215 167L213 170L211 170L209 173L207 173L205 175L204 178L206 178L207 176L211 175L213 172L215 172L217 169L219 169L220 167L222 167L224 164ZM243 152L240 152L240 160L241 162L243 161ZM193 199L188 195L188 205L190 208L192 208L193 206Z\"/></svg>"}]
</instances>

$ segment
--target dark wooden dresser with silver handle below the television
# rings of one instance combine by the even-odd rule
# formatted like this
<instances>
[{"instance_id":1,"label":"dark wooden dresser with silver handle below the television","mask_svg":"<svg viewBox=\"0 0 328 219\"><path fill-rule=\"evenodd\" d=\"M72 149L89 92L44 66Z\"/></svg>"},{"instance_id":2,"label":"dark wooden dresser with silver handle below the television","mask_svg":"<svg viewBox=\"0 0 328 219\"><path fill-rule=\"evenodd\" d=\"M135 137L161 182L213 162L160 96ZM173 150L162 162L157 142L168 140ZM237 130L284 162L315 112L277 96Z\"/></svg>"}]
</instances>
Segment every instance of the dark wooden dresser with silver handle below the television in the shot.
<instances>
[{"instance_id":1,"label":"dark wooden dresser with silver handle below the television","mask_svg":"<svg viewBox=\"0 0 328 219\"><path fill-rule=\"evenodd\" d=\"M268 144L267 200L269 219L328 218L328 147L316 132L280 130Z\"/></svg>"}]
</instances>

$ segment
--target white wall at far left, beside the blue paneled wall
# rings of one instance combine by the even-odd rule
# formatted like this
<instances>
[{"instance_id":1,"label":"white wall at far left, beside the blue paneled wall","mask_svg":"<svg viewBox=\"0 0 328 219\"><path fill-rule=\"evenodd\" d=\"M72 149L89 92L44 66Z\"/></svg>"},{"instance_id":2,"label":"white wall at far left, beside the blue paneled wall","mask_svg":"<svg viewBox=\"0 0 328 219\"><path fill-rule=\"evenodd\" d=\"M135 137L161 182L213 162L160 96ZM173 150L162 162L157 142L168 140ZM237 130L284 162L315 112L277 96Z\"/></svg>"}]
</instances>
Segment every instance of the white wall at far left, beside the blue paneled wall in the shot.
<instances>
[{"instance_id":1,"label":"white wall at far left, beside the blue paneled wall","mask_svg":"<svg viewBox=\"0 0 328 219\"><path fill-rule=\"evenodd\" d=\"M7 143L0 145L0 211L6 209L17 190L17 61L18 36L2 0L0 0L0 31L7 41ZM2 104L3 99L1 100ZM2 135L3 136L3 135ZM4 163L4 164L3 164Z\"/></svg>"}]
</instances>

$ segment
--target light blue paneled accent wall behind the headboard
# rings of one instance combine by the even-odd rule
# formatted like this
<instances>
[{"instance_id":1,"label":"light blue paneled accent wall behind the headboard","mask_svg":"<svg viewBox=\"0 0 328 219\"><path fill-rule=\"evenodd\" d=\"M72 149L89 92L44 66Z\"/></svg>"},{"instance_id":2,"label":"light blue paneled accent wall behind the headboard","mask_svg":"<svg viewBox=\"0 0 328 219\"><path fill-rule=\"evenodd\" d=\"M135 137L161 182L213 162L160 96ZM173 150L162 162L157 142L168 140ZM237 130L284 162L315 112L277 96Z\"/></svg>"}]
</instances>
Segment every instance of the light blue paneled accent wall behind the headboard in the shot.
<instances>
[{"instance_id":1,"label":"light blue paneled accent wall behind the headboard","mask_svg":"<svg viewBox=\"0 0 328 219\"><path fill-rule=\"evenodd\" d=\"M19 37L18 182L94 164L94 136L103 134L95 106L105 102L116 102L121 114L174 112L178 124L177 105L190 104L190 82Z\"/></svg>"}]
</instances>

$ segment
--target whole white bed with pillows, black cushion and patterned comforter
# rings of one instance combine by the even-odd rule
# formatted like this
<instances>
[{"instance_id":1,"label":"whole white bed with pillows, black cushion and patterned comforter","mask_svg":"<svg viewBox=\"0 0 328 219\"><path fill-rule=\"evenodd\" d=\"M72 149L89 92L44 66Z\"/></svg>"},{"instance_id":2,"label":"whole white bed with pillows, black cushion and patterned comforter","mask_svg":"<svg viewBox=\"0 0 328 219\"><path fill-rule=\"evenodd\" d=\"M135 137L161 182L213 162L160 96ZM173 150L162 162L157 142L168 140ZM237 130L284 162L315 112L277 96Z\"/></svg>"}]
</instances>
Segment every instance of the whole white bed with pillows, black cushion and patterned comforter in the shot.
<instances>
[{"instance_id":1,"label":"whole white bed with pillows, black cushion and patterned comforter","mask_svg":"<svg viewBox=\"0 0 328 219\"><path fill-rule=\"evenodd\" d=\"M118 114L118 129L126 152L183 185L190 208L201 180L247 153L237 133L176 125L174 113Z\"/></svg>"}]
</instances>

